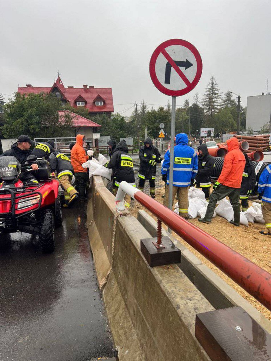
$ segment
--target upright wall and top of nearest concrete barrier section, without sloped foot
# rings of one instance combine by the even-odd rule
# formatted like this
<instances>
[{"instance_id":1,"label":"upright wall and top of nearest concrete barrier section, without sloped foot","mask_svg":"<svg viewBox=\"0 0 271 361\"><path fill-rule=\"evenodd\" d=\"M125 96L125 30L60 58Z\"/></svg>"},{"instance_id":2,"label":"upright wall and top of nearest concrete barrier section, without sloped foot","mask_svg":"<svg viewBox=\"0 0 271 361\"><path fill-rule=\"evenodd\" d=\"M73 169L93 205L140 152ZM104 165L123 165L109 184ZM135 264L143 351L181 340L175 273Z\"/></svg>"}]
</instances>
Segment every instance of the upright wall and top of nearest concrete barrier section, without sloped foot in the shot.
<instances>
[{"instance_id":1,"label":"upright wall and top of nearest concrete barrier section, without sloped foot","mask_svg":"<svg viewBox=\"0 0 271 361\"><path fill-rule=\"evenodd\" d=\"M214 308L177 265L147 265L140 239L149 237L134 217L117 219L112 270L146 359L209 360L195 315Z\"/></svg>"}]
</instances>

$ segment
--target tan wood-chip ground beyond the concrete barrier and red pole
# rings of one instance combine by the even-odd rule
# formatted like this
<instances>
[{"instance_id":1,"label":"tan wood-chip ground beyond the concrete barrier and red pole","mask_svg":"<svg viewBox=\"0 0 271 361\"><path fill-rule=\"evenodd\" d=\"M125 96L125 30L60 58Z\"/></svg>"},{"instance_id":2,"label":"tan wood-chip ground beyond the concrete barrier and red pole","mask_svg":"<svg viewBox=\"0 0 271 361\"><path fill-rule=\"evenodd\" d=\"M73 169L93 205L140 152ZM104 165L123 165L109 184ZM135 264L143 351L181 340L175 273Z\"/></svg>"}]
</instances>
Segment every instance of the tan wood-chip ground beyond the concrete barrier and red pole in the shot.
<instances>
[{"instance_id":1,"label":"tan wood-chip ground beyond the concrete barrier and red pole","mask_svg":"<svg viewBox=\"0 0 271 361\"><path fill-rule=\"evenodd\" d=\"M164 195L164 182L160 181L156 186L156 200L160 203L163 203L162 196ZM176 203L177 200L174 201ZM251 205L249 201L249 205ZM137 201L132 201L130 212L134 217L137 218L137 212L139 210L145 210L150 216L154 219L156 217L144 208ZM228 247L231 247L236 252L248 258L250 261L254 262L258 266L262 267L269 273L271 273L271 260L270 260L270 248L271 248L271 236L264 236L259 233L260 230L264 230L265 226L261 223L249 223L249 226L240 225L236 227L231 225L226 219L216 216L212 218L212 223L210 225L206 223L199 223L198 218L189 219L190 223L193 223L195 226L203 229L207 233L214 236L220 242L223 242ZM162 224L164 229L167 227ZM231 278L227 277L222 271L220 271L216 266L214 266L210 261L208 261L204 256L202 256L198 251L186 243L180 236L173 232L173 236L182 243L186 248L189 249L195 256L197 256L203 264L208 266L212 271L219 275L225 282L227 282L233 289L235 289L242 297L244 297L251 305L253 305L258 311L260 311L264 316L271 320L271 312L264 307L260 302L250 296L248 292L243 290L237 283L235 283Z\"/></svg>"}]
</instances>

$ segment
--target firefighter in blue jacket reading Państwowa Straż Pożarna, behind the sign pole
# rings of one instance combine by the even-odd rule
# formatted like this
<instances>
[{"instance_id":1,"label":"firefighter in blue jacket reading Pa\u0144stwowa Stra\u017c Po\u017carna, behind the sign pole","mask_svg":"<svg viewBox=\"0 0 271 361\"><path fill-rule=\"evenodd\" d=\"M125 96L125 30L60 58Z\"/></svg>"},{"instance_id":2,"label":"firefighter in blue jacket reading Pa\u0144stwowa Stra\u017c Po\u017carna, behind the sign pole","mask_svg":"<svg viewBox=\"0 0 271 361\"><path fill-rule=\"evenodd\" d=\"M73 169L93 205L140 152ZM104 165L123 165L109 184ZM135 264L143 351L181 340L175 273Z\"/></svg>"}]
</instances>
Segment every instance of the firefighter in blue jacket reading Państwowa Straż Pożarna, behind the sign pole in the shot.
<instances>
[{"instance_id":1,"label":"firefighter in blue jacket reading Pa\u0144stwowa Stra\u017c Po\u017carna, behind the sign pole","mask_svg":"<svg viewBox=\"0 0 271 361\"><path fill-rule=\"evenodd\" d=\"M164 197L165 206L168 206L169 159L170 152L166 152L161 170L163 181L167 181ZM195 178L197 172L197 153L193 148L189 147L188 136L186 134L177 134L176 146L174 147L172 200L175 198L177 193L179 215L185 219L188 219L188 190L191 179Z\"/></svg>"}]
</instances>

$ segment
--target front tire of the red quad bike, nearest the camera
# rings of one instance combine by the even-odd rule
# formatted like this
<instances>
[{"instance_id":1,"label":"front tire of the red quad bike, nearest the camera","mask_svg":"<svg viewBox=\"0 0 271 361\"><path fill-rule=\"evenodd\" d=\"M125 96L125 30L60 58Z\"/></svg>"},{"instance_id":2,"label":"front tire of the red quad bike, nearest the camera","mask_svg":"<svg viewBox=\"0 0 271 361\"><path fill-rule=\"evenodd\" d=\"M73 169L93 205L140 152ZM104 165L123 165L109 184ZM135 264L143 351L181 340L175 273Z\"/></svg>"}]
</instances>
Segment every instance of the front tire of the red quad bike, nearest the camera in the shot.
<instances>
[{"instance_id":1,"label":"front tire of the red quad bike, nearest the camera","mask_svg":"<svg viewBox=\"0 0 271 361\"><path fill-rule=\"evenodd\" d=\"M44 209L40 213L39 245L44 253L55 250L55 219L51 209Z\"/></svg>"}]
</instances>

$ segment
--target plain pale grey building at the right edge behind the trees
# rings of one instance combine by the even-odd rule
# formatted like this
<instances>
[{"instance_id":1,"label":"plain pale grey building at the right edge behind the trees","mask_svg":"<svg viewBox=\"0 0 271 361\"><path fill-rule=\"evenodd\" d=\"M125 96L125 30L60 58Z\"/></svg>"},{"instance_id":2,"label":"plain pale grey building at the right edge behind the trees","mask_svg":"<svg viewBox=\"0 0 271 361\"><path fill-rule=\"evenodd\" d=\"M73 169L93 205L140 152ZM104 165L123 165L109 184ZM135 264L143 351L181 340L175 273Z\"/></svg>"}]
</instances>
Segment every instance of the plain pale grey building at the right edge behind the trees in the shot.
<instances>
[{"instance_id":1,"label":"plain pale grey building at the right edge behind the trees","mask_svg":"<svg viewBox=\"0 0 271 361\"><path fill-rule=\"evenodd\" d=\"M260 130L263 125L269 126L271 118L271 94L248 96L246 109L246 129Z\"/></svg>"}]
</instances>

